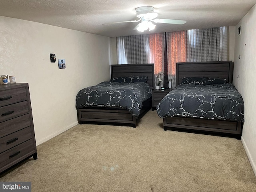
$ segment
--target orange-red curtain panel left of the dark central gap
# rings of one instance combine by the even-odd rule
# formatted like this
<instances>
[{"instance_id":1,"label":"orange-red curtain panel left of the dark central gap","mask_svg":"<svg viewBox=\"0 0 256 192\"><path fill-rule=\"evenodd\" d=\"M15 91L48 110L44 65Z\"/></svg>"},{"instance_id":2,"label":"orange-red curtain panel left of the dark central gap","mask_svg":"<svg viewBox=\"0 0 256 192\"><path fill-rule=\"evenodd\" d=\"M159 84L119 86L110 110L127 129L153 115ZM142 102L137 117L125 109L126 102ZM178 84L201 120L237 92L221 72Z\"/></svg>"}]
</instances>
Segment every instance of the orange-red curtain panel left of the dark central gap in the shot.
<instances>
[{"instance_id":1,"label":"orange-red curtain panel left of the dark central gap","mask_svg":"<svg viewBox=\"0 0 256 192\"><path fill-rule=\"evenodd\" d=\"M160 86L164 86L164 39L165 33L149 34L149 63L154 63L155 87L158 84L157 75L162 79Z\"/></svg>"}]
</instances>

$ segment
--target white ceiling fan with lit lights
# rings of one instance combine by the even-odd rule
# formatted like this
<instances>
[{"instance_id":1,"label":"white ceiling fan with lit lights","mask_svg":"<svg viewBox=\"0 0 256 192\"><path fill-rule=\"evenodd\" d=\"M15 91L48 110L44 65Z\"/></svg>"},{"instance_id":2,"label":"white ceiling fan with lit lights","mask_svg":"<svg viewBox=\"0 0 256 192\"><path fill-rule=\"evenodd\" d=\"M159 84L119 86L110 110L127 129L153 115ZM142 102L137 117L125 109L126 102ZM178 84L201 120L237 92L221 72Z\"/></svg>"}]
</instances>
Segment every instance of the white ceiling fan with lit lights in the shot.
<instances>
[{"instance_id":1,"label":"white ceiling fan with lit lights","mask_svg":"<svg viewBox=\"0 0 256 192\"><path fill-rule=\"evenodd\" d=\"M120 22L114 22L114 23L139 22L141 20L141 23L139 23L134 29L137 29L140 32L144 32L147 29L151 31L156 27L156 25L154 25L152 22L166 23L166 24L179 24L179 25L185 24L187 22L186 20L177 20L177 19L158 19L156 18L158 14L154 12L154 7L152 6L138 7L135 9L135 11L136 11L136 16L140 18L139 20L120 21Z\"/></svg>"}]
</instances>

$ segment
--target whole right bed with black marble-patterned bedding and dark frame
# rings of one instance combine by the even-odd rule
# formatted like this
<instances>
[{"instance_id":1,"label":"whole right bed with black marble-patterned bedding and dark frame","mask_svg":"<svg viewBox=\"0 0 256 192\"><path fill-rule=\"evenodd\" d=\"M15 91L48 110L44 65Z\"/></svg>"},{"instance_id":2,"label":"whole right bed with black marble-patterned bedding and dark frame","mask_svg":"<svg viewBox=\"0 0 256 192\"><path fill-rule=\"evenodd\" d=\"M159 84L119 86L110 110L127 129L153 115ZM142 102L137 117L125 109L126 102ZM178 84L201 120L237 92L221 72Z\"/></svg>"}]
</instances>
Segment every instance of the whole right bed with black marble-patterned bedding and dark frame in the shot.
<instances>
[{"instance_id":1,"label":"whole right bed with black marble-patterned bedding and dark frame","mask_svg":"<svg viewBox=\"0 0 256 192\"><path fill-rule=\"evenodd\" d=\"M240 139L244 102L232 79L232 61L177 63L176 88L156 107L164 130Z\"/></svg>"}]
</instances>

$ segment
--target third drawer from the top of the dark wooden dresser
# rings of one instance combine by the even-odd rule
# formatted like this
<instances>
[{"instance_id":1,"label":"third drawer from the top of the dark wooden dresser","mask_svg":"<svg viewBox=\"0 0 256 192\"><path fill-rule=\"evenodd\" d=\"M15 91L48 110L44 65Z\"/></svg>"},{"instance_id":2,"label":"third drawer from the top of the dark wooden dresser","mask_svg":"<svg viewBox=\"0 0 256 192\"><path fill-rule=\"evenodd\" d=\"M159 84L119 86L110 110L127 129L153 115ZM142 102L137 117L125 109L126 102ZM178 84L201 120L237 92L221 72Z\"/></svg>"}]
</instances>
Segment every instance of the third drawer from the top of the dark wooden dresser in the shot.
<instances>
[{"instance_id":1,"label":"third drawer from the top of the dark wooden dresser","mask_svg":"<svg viewBox=\"0 0 256 192\"><path fill-rule=\"evenodd\" d=\"M0 138L30 126L29 114L0 123Z\"/></svg>"}]
</instances>

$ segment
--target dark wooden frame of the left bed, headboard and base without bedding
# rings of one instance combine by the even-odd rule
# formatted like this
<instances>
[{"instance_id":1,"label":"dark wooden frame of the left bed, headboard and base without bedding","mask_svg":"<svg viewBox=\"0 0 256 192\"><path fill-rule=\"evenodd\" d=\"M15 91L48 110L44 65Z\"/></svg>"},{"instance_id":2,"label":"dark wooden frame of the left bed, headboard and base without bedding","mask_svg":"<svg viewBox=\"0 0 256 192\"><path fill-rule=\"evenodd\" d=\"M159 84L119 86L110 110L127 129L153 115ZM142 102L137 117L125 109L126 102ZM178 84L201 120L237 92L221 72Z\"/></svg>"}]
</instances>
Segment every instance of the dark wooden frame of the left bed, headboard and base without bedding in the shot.
<instances>
[{"instance_id":1,"label":"dark wooden frame of the left bed, headboard and base without bedding","mask_svg":"<svg viewBox=\"0 0 256 192\"><path fill-rule=\"evenodd\" d=\"M148 76L150 88L154 87L154 64L110 65L111 78L120 76ZM143 102L141 118L152 107L152 98ZM128 110L119 107L88 107L77 110L78 123L122 124L136 127L136 118ZM138 119L139 119L138 118Z\"/></svg>"}]
</instances>

